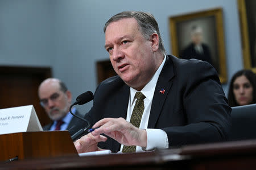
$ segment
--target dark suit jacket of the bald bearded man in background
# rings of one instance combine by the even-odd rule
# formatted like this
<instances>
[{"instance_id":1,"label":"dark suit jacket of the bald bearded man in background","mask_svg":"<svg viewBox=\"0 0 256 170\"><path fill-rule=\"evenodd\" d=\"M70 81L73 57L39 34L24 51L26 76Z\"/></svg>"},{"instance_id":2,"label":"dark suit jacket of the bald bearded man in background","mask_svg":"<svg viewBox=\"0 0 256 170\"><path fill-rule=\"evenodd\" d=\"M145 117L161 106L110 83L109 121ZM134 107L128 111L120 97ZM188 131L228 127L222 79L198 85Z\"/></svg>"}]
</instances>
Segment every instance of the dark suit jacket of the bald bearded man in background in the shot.
<instances>
[{"instance_id":1,"label":"dark suit jacket of the bald bearded man in background","mask_svg":"<svg viewBox=\"0 0 256 170\"><path fill-rule=\"evenodd\" d=\"M79 111L76 110L74 113L79 115ZM43 127L43 130L50 130L53 122ZM67 130L69 130L69 134L72 136L75 132L79 131L82 127L85 127L86 123L82 122L79 118L73 117L68 124Z\"/></svg>"}]
</instances>

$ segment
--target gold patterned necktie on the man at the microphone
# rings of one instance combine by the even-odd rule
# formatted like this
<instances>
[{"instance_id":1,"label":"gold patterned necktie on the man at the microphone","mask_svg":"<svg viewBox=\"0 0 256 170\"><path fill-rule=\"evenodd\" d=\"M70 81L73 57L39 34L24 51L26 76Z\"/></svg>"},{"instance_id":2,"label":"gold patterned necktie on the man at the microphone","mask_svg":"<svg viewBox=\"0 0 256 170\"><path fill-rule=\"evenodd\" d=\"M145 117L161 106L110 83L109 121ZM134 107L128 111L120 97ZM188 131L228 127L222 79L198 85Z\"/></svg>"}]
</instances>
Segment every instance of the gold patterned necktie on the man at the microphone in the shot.
<instances>
[{"instance_id":1,"label":"gold patterned necktie on the man at the microphone","mask_svg":"<svg viewBox=\"0 0 256 170\"><path fill-rule=\"evenodd\" d=\"M133 113L131 114L131 120L130 123L133 124L133 126L138 127L141 125L141 118L144 111L144 101L143 99L146 98L141 92L137 92L135 94L135 97L137 98L137 101L135 103ZM123 153L128 152L135 152L136 146L123 146Z\"/></svg>"}]
</instances>

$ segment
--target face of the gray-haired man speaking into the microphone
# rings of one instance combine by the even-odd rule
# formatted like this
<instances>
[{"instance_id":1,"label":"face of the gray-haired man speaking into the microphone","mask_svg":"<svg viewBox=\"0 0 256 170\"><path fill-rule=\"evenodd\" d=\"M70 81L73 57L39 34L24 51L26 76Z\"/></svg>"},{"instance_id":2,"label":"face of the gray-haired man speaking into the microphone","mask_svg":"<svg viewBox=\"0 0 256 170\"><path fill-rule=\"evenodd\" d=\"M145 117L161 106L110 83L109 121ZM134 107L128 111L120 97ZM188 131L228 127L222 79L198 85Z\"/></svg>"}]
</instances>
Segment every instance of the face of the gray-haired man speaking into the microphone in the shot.
<instances>
[{"instance_id":1,"label":"face of the gray-haired man speaking into the microphone","mask_svg":"<svg viewBox=\"0 0 256 170\"><path fill-rule=\"evenodd\" d=\"M150 81L159 66L155 55L158 35L151 36L152 40L143 37L134 18L112 22L106 28L105 48L113 68L128 86L137 90Z\"/></svg>"}]
</instances>

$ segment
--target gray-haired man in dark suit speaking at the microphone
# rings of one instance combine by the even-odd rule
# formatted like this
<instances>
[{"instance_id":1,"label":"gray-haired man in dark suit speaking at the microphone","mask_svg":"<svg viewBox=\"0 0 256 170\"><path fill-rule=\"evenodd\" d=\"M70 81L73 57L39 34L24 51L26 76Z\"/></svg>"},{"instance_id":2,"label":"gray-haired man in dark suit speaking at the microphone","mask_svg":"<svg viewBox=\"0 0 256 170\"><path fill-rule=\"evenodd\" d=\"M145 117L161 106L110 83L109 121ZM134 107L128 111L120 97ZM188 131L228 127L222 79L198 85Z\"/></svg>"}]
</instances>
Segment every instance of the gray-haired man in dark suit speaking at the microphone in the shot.
<instances>
[{"instance_id":1,"label":"gray-haired man in dark suit speaking at the microphone","mask_svg":"<svg viewBox=\"0 0 256 170\"><path fill-rule=\"evenodd\" d=\"M167 56L154 16L125 11L104 32L118 76L96 89L85 115L96 129L75 142L78 152L150 151L228 138L231 109L217 72L204 61Z\"/></svg>"}]
</instances>

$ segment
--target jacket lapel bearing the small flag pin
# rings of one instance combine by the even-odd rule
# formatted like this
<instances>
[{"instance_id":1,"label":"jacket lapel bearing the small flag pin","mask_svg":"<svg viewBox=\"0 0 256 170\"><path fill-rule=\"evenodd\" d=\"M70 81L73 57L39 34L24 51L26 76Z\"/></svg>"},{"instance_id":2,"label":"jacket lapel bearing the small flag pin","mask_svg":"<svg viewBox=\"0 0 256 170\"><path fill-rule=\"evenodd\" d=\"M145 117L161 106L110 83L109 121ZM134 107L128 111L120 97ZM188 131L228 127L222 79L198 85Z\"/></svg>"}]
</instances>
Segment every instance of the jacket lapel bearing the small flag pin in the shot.
<instances>
[{"instance_id":1,"label":"jacket lapel bearing the small flag pin","mask_svg":"<svg viewBox=\"0 0 256 170\"><path fill-rule=\"evenodd\" d=\"M159 75L158 82L156 83L154 97L152 100L150 117L148 120L148 128L154 128L158 121L159 114L162 110L164 101L172 86L172 77L174 77L174 64L169 56L166 57L166 63ZM164 89L164 93L160 93L160 90Z\"/></svg>"}]
</instances>

